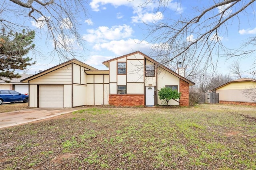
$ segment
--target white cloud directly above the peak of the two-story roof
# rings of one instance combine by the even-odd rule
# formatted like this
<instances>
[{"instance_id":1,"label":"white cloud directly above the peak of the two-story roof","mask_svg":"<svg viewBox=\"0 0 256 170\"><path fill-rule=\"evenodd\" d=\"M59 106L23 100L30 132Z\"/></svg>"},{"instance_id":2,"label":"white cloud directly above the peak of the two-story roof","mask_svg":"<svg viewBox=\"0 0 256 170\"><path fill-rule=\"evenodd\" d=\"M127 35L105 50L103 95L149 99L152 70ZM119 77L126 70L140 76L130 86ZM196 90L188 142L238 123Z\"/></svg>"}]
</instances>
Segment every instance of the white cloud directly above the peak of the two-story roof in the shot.
<instances>
[{"instance_id":1,"label":"white cloud directly above the peak of the two-story roof","mask_svg":"<svg viewBox=\"0 0 256 170\"><path fill-rule=\"evenodd\" d=\"M132 51L148 51L152 47L152 44L147 41L142 41L138 39L127 39L120 41L110 41L108 43L99 43L94 45L94 50L107 49L112 51L116 55L125 55L131 53Z\"/></svg>"}]
</instances>

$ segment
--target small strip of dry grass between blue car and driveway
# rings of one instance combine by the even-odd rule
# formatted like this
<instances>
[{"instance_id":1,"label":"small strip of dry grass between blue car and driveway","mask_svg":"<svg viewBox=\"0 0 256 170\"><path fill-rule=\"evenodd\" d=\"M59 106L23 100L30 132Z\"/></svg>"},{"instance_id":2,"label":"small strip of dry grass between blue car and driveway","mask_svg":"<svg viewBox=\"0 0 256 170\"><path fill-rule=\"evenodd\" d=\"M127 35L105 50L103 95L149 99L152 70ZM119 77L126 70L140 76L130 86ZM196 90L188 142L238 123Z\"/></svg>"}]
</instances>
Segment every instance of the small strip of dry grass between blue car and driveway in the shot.
<instances>
[{"instance_id":1,"label":"small strip of dry grass between blue car and driveway","mask_svg":"<svg viewBox=\"0 0 256 170\"><path fill-rule=\"evenodd\" d=\"M5 103L0 105L0 113L28 109L28 103L16 102L14 104Z\"/></svg>"}]
</instances>

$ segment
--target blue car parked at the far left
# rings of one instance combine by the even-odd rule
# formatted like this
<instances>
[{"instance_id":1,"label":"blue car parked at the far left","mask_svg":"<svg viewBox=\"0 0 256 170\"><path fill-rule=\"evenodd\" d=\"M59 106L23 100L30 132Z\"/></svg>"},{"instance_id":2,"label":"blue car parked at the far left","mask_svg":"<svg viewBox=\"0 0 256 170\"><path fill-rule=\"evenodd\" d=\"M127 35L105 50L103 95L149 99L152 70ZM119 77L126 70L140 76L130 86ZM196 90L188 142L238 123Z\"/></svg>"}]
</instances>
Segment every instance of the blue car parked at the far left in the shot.
<instances>
[{"instance_id":1,"label":"blue car parked at the far left","mask_svg":"<svg viewBox=\"0 0 256 170\"><path fill-rule=\"evenodd\" d=\"M14 90L0 90L0 104L3 102L28 102L28 95L21 94Z\"/></svg>"}]
</instances>

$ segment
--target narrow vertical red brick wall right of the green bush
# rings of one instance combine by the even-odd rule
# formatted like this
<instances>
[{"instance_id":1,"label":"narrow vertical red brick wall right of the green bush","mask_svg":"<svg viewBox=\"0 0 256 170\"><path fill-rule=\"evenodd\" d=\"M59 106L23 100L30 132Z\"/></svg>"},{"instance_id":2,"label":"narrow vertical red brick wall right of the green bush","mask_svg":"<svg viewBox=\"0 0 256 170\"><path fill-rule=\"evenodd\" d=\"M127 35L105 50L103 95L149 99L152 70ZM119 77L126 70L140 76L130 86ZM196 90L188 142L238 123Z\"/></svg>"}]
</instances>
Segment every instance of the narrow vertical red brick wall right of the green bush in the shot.
<instances>
[{"instance_id":1,"label":"narrow vertical red brick wall right of the green bush","mask_svg":"<svg viewBox=\"0 0 256 170\"><path fill-rule=\"evenodd\" d=\"M184 80L180 79L180 106L189 106L189 84Z\"/></svg>"}]
</instances>

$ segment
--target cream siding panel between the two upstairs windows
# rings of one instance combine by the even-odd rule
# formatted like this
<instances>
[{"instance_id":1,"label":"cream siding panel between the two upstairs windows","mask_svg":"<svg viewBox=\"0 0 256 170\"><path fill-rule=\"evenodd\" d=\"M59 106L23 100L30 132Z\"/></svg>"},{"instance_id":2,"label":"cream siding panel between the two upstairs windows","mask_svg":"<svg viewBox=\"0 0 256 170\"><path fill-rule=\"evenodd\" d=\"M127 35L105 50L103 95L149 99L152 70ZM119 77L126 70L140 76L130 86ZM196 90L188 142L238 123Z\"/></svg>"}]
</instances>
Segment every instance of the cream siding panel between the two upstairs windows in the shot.
<instances>
[{"instance_id":1,"label":"cream siding panel between the two upstairs windows","mask_svg":"<svg viewBox=\"0 0 256 170\"><path fill-rule=\"evenodd\" d=\"M144 60L127 61L127 82L144 82Z\"/></svg>"}]
</instances>

